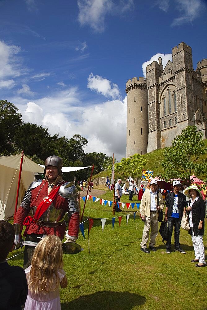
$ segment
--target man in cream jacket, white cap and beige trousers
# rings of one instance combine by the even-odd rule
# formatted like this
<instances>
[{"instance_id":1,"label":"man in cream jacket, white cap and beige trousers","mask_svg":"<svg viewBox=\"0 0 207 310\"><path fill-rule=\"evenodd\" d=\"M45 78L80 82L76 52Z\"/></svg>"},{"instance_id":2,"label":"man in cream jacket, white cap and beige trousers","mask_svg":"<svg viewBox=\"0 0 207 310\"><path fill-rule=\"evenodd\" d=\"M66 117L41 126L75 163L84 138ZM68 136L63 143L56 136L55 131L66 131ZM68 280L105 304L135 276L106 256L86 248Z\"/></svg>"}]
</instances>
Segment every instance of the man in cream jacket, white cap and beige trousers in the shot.
<instances>
[{"instance_id":1,"label":"man in cream jacket, white cap and beige trousers","mask_svg":"<svg viewBox=\"0 0 207 310\"><path fill-rule=\"evenodd\" d=\"M157 181L151 180L150 189L145 189L140 203L140 215L142 221L144 222L142 242L140 246L141 251L143 251L144 253L150 253L149 250L156 252L155 239L158 235L158 210L160 209L162 210L163 207L164 207L164 201L162 194L159 191L157 191ZM151 227L151 233L150 233L149 250L148 250L147 243L149 240L150 227Z\"/></svg>"}]
</instances>

